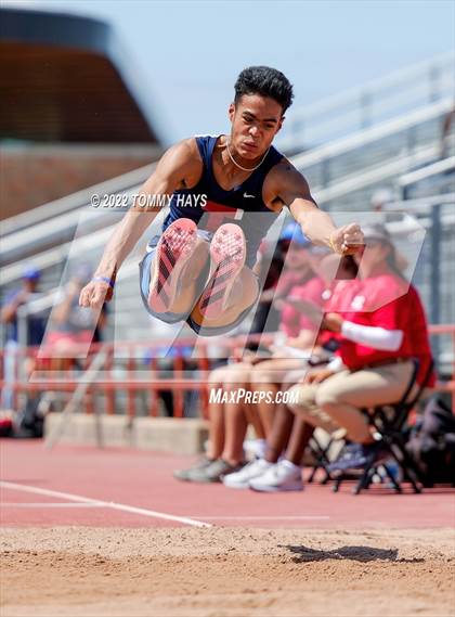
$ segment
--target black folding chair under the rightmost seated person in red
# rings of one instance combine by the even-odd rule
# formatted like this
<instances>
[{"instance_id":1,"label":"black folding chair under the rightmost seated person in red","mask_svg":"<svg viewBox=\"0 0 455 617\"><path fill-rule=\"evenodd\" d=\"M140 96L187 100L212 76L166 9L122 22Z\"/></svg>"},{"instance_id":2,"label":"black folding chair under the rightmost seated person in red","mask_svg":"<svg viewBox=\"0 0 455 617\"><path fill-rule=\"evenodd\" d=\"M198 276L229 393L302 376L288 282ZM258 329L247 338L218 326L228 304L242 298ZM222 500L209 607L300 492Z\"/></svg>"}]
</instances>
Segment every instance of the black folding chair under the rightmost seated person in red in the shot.
<instances>
[{"instance_id":1,"label":"black folding chair under the rightmost seated person in red","mask_svg":"<svg viewBox=\"0 0 455 617\"><path fill-rule=\"evenodd\" d=\"M406 451L403 427L410 412L414 409L415 404L421 397L421 394L430 380L433 370L433 362L431 361L416 394L410 398L414 385L416 384L419 370L419 361L417 358L413 358L413 374L407 388L399 402L393 404L381 404L370 410L363 409L362 411L368 415L370 425L375 427L376 432L380 436L384 447L382 450L386 450L390 454L390 459L396 463L399 471L401 472L400 475L402 479L407 479L411 483L414 492L419 493L421 492L421 486L424 484L421 472ZM338 491L343 480L358 479L353 493L359 494L362 489L369 488L375 475L380 475L381 471L390 479L394 490L396 492L402 492L401 479L392 473L387 462L384 462L384 457L381 457L381 461L373 460L367 463L363 470L360 470L360 477L359 474L353 474L353 472L349 472L349 470L347 472L341 472L335 480L334 492Z\"/></svg>"}]
</instances>

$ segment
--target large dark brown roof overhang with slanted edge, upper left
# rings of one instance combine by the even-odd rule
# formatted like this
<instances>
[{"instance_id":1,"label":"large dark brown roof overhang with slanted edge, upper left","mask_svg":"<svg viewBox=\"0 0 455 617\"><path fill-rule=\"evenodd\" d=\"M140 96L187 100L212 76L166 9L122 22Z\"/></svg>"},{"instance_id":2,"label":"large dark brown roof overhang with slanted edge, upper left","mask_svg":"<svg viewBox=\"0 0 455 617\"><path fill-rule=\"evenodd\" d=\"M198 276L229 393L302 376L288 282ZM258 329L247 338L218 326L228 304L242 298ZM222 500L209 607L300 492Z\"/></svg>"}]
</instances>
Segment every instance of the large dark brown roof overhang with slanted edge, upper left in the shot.
<instances>
[{"instance_id":1,"label":"large dark brown roof overhang with slanted edge, upper left","mask_svg":"<svg viewBox=\"0 0 455 617\"><path fill-rule=\"evenodd\" d=\"M166 141L150 91L108 24L12 8L0 17L2 140Z\"/></svg>"}]
</instances>

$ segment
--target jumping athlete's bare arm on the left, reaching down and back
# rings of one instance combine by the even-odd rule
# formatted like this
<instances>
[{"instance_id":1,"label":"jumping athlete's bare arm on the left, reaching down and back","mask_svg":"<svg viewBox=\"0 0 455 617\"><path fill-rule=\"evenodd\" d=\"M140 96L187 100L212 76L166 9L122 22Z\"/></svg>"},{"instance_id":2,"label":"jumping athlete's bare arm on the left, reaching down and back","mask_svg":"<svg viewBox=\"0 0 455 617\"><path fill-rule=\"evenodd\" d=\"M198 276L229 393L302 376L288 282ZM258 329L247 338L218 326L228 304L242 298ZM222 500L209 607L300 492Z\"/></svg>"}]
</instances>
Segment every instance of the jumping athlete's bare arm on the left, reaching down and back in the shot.
<instances>
[{"instance_id":1,"label":"jumping athlete's bare arm on the left, reaching down and back","mask_svg":"<svg viewBox=\"0 0 455 617\"><path fill-rule=\"evenodd\" d=\"M170 147L159 159L152 176L142 185L139 194L145 195L170 195L177 189L185 185L188 177L197 173L198 165L191 140L179 142ZM113 296L113 286L108 282L115 281L117 272L134 248L136 242L152 223L159 207L142 207L140 197L115 228L104 249L100 265L93 275L93 280L80 292L79 304L83 307L101 308L104 301ZM145 204L147 200L145 200ZM156 203L160 203L156 200Z\"/></svg>"}]
</instances>

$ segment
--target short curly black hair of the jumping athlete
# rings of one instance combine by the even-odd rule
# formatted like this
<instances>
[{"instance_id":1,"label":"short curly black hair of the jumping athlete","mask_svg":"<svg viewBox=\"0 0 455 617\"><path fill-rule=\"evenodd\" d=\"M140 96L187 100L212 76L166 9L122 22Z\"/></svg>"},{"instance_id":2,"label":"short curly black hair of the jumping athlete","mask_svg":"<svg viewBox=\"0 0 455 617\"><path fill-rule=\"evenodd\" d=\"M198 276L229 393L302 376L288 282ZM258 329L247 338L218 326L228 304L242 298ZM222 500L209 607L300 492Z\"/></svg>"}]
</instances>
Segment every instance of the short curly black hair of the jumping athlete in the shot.
<instances>
[{"instance_id":1,"label":"short curly black hair of the jumping athlete","mask_svg":"<svg viewBox=\"0 0 455 617\"><path fill-rule=\"evenodd\" d=\"M292 104L292 85L283 73L270 66L244 68L234 88L235 103L238 103L244 94L260 94L276 101L283 107L283 113Z\"/></svg>"}]
</instances>

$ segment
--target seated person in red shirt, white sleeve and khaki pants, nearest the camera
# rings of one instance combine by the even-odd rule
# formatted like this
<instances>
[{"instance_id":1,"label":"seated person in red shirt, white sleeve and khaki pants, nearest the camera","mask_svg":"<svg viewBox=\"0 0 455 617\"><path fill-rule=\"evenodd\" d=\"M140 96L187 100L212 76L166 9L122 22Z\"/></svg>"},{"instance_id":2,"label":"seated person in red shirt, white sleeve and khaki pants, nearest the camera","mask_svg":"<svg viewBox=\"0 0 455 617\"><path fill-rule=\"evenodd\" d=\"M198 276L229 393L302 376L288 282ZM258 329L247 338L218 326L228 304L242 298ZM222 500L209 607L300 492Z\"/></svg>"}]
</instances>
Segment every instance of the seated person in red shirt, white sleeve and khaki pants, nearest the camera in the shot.
<instances>
[{"instance_id":1,"label":"seated person in red shirt, white sleeve and khaki pants, nearest the camera","mask_svg":"<svg viewBox=\"0 0 455 617\"><path fill-rule=\"evenodd\" d=\"M310 375L306 384L294 386L299 401L292 411L327 430L343 427L348 439L355 442L336 468L363 466L377 455L380 442L375 441L361 410L398 402L413 374L412 359L420 363L417 384L431 361L419 296L396 268L387 230L379 224L367 228L365 242L363 254L354 257L359 280L353 283L356 288L349 308L343 305L342 312L328 313L323 323L341 335L337 358L324 371Z\"/></svg>"}]
</instances>

